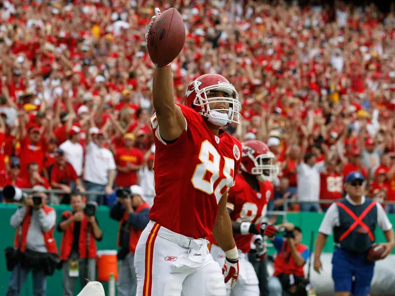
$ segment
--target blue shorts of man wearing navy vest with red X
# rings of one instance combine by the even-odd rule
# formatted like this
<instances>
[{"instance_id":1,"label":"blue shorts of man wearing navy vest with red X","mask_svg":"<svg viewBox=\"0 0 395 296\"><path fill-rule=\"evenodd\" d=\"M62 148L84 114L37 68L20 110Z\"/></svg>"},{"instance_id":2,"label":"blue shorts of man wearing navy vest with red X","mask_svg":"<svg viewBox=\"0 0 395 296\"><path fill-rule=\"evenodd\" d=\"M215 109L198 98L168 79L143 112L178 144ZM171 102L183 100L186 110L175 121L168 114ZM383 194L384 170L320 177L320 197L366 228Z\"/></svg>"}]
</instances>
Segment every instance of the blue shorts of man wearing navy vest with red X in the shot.
<instances>
[{"instance_id":1,"label":"blue shorts of man wearing navy vest with red X","mask_svg":"<svg viewBox=\"0 0 395 296\"><path fill-rule=\"evenodd\" d=\"M374 262L366 260L366 254L351 254L336 247L332 265L335 292L351 292L353 296L370 294Z\"/></svg>"}]
</instances>

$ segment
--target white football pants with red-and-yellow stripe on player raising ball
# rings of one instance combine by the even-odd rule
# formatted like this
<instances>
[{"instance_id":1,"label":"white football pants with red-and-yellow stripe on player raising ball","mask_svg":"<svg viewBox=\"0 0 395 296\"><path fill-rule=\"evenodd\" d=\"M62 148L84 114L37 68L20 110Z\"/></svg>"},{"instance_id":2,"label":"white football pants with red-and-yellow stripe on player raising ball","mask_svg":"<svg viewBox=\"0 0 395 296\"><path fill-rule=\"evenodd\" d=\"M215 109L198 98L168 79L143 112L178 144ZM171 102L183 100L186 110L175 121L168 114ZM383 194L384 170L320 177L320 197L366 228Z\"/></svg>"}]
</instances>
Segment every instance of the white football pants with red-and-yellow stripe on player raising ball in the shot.
<instances>
[{"instance_id":1,"label":"white football pants with red-and-yellow stripe on player raising ball","mask_svg":"<svg viewBox=\"0 0 395 296\"><path fill-rule=\"evenodd\" d=\"M226 296L222 269L207 244L150 221L134 256L136 296Z\"/></svg>"}]
</instances>

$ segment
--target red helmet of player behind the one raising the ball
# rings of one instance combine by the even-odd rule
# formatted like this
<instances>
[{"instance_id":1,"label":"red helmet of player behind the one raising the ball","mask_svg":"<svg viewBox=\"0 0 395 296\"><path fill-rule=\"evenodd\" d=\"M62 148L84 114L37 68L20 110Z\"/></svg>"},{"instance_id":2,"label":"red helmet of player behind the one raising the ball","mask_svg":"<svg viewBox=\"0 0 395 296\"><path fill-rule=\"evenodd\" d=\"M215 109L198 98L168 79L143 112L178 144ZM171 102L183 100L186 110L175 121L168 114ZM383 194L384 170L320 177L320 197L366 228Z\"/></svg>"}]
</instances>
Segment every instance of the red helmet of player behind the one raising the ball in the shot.
<instances>
[{"instance_id":1,"label":"red helmet of player behind the one raising the ball","mask_svg":"<svg viewBox=\"0 0 395 296\"><path fill-rule=\"evenodd\" d=\"M242 143L241 170L257 176L258 181L273 182L279 173L279 167L273 164L275 155L268 146L257 140Z\"/></svg>"}]
</instances>

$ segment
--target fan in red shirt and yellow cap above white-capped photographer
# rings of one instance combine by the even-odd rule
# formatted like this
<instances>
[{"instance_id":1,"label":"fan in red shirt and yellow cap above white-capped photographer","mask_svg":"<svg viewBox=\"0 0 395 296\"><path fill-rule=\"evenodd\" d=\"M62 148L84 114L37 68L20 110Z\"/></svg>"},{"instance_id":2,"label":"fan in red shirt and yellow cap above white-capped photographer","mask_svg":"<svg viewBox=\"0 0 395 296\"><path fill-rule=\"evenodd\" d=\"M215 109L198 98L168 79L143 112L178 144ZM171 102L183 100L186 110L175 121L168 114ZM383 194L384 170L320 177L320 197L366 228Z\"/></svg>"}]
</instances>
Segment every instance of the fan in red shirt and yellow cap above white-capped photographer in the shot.
<instances>
[{"instance_id":1,"label":"fan in red shirt and yellow cap above white-capped photographer","mask_svg":"<svg viewBox=\"0 0 395 296\"><path fill-rule=\"evenodd\" d=\"M127 133L123 136L124 147L118 148L115 154L117 164L117 178L115 185L129 187L137 184L137 171L143 164L143 153L134 148L134 135Z\"/></svg>"}]
</instances>

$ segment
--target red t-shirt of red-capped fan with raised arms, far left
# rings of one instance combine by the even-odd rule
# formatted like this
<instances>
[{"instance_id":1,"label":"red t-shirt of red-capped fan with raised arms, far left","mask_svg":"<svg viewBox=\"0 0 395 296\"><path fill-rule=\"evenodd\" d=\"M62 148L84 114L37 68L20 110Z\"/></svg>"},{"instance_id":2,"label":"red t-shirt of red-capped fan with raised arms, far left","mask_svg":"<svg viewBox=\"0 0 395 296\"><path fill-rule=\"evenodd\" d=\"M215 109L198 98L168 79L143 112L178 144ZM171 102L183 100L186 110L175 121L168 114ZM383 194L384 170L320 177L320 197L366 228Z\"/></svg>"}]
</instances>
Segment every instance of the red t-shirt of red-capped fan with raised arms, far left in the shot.
<instances>
[{"instance_id":1,"label":"red t-shirt of red-capped fan with raised arms, far left","mask_svg":"<svg viewBox=\"0 0 395 296\"><path fill-rule=\"evenodd\" d=\"M36 162L39 165L39 173L41 173L44 164L45 144L45 140L41 139L37 145L34 145L30 142L28 136L21 141L21 151L19 155L21 163L19 176L21 178L29 176L28 165L31 162Z\"/></svg>"}]
</instances>

